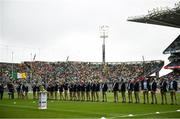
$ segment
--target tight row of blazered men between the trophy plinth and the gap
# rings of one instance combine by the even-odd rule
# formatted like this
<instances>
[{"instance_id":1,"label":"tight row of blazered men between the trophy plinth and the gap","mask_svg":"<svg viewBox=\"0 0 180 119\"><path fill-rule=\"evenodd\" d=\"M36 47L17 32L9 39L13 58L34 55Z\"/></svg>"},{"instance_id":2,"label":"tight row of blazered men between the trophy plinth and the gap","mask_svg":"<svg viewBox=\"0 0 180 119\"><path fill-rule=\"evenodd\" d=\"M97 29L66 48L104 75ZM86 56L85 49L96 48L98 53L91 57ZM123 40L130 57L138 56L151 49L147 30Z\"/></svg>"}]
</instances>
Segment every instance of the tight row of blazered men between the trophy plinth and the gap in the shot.
<instances>
[{"instance_id":1,"label":"tight row of blazered men between the trophy plinth and the gap","mask_svg":"<svg viewBox=\"0 0 180 119\"><path fill-rule=\"evenodd\" d=\"M48 99L70 100L70 101L100 101L102 90L102 101L107 102L108 85L106 81L49 81L46 90Z\"/></svg>"}]
</instances>

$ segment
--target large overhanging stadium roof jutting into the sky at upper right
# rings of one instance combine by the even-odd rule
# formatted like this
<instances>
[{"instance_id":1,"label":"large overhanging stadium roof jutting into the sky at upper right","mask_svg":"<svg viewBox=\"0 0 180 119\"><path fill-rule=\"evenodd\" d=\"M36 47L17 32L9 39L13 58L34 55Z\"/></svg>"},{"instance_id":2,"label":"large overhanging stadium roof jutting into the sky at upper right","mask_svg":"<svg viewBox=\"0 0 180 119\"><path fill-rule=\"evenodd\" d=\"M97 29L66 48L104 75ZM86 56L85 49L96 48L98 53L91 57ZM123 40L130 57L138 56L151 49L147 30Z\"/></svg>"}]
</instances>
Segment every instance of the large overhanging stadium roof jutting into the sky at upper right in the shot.
<instances>
[{"instance_id":1,"label":"large overhanging stadium roof jutting into the sky at upper right","mask_svg":"<svg viewBox=\"0 0 180 119\"><path fill-rule=\"evenodd\" d=\"M128 21L180 28L180 2L172 9L153 9L148 11L148 15L129 17Z\"/></svg>"}]
</instances>

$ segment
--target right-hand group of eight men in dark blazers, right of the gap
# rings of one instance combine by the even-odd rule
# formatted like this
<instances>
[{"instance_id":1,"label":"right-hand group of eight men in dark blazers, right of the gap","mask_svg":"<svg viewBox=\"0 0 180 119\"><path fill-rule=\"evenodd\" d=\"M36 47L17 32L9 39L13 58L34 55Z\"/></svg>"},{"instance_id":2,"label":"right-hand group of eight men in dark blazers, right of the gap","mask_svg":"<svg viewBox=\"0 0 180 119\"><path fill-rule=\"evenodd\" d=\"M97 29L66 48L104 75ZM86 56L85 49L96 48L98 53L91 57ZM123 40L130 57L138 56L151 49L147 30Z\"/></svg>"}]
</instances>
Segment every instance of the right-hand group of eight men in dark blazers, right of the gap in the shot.
<instances>
[{"instance_id":1,"label":"right-hand group of eight men in dark blazers, right of the gap","mask_svg":"<svg viewBox=\"0 0 180 119\"><path fill-rule=\"evenodd\" d=\"M167 104L167 92L170 92L171 104L177 104L176 91L178 90L177 81L171 77L169 81L161 78L158 83L154 78L145 78L143 80L129 80L126 86L126 82L121 80L114 81L113 92L114 102L118 102L118 92L121 92L122 103L126 102L126 91L128 92L128 101L133 103L133 92L135 103L140 103L140 91L143 92L143 103L149 103L149 93L151 94L151 104L157 104L157 89L160 89L161 104ZM120 85L120 86L119 86Z\"/></svg>"}]
</instances>

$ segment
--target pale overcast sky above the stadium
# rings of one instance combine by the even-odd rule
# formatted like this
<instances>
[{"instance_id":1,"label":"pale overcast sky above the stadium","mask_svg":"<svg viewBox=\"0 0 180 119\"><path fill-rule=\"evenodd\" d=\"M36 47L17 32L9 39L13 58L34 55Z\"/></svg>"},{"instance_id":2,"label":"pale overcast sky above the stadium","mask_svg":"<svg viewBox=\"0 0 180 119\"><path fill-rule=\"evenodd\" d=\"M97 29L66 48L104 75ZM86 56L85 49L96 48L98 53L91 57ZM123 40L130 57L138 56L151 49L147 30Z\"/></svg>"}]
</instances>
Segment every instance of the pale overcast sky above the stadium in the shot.
<instances>
[{"instance_id":1,"label":"pale overcast sky above the stadium","mask_svg":"<svg viewBox=\"0 0 180 119\"><path fill-rule=\"evenodd\" d=\"M179 29L128 22L177 0L0 0L0 61L102 61L99 26L108 25L106 61L165 60ZM13 59L12 59L13 52ZM32 54L32 55L31 55Z\"/></svg>"}]
</instances>

